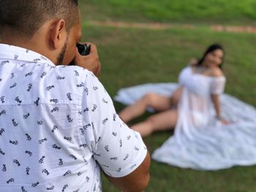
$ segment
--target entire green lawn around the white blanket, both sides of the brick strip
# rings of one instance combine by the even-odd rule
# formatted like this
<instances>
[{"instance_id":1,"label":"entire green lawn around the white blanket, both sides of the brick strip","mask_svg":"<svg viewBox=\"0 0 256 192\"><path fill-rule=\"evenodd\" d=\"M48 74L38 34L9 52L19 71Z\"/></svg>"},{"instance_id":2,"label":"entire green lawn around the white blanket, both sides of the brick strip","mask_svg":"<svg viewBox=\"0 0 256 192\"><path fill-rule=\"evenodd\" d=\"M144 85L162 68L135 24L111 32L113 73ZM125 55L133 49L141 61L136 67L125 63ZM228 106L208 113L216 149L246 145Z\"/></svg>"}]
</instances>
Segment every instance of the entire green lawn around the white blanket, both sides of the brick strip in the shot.
<instances>
[{"instance_id":1,"label":"entire green lawn around the white blanket, both sides of the brick strip","mask_svg":"<svg viewBox=\"0 0 256 192\"><path fill-rule=\"evenodd\" d=\"M199 58L205 48L212 42L219 42L225 47L224 70L227 76L225 92L230 93L239 99L248 102L256 107L256 67L255 67L255 34L236 34L226 32L210 31L200 25L207 22L203 13L191 11L191 20L198 24L198 28L186 30L182 28L171 28L165 30L151 30L139 28L115 28L106 26L94 26L86 20L104 20L112 18L123 21L138 22L169 20L169 16L160 17L156 13L148 11L151 9L161 9L169 6L174 9L173 4L180 6L177 15L183 15L175 22L188 23L187 15L189 5L184 4L187 0L181 1L136 1L129 4L129 1L110 0L108 1L81 1L80 7L83 15L83 40L94 42L98 46L100 61L102 63L102 74L100 80L107 89L110 96L114 96L119 88L131 85L138 85L146 82L176 82L178 73L187 65L190 58ZM190 2L190 1L189 1ZM199 1L196 1L198 6ZM208 4L213 1L200 1ZM216 1L214 1L216 2ZM226 4L225 1L217 1ZM229 1L231 7L236 1ZM238 1L237 1L238 2ZM195 1L191 1L195 4ZM241 1L241 9L251 9L254 1ZM203 5L202 5L203 6ZM204 5L205 6L205 5ZM214 4L207 7L217 6ZM128 7L128 8L126 8ZM138 12L139 7L145 12ZM199 6L200 7L200 6ZM225 7L223 5L223 7ZM229 7L226 5L226 7ZM225 12L223 20L229 23L249 22L255 18L254 14L242 17L238 9L229 8ZM89 10L90 9L90 10ZM125 11L130 9L130 11ZM175 8L176 9L176 8ZM97 10L97 11L96 11ZM163 15L167 15L167 10L163 9ZM217 10L216 10L217 11ZM135 14L137 12L138 19ZM210 14L204 11L204 14ZM197 14L198 13L198 14ZM234 15L236 13L236 15ZM241 19L239 14L241 14ZM104 15L106 15L104 17ZM148 16L151 15L151 16ZM229 15L229 16L228 16ZM232 16L233 15L233 16ZM159 19L160 18L160 19ZM198 22L197 22L198 20ZM218 22L218 18L211 18L209 22ZM225 22L226 22L225 21ZM116 110L121 110L124 106L118 103ZM141 120L146 118L144 115ZM148 150L152 152L159 147L172 132L166 131L156 133L145 139ZM103 177L104 178L104 177ZM156 191L176 191L176 192L254 192L256 191L256 166L234 167L217 172L200 172L191 169L180 169L166 164L151 162L151 182L146 188L146 192ZM116 188L108 180L103 180L103 190L116 192Z\"/></svg>"}]
</instances>

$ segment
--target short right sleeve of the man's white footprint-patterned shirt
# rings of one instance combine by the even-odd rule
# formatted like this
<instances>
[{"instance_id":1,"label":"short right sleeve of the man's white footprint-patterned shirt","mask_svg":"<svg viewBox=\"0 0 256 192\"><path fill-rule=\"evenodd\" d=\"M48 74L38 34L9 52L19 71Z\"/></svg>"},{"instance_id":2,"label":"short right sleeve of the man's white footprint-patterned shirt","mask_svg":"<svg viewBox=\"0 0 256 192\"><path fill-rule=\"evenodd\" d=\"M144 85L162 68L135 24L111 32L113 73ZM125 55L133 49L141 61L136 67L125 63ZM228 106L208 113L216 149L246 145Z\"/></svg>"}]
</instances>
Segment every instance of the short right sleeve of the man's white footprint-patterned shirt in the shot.
<instances>
[{"instance_id":1,"label":"short right sleeve of the man's white footprint-patterned shirt","mask_svg":"<svg viewBox=\"0 0 256 192\"><path fill-rule=\"evenodd\" d=\"M89 125L86 142L95 161L111 177L124 177L146 158L146 145L140 134L130 129L116 114L113 101L91 72L85 82L83 123Z\"/></svg>"}]
</instances>

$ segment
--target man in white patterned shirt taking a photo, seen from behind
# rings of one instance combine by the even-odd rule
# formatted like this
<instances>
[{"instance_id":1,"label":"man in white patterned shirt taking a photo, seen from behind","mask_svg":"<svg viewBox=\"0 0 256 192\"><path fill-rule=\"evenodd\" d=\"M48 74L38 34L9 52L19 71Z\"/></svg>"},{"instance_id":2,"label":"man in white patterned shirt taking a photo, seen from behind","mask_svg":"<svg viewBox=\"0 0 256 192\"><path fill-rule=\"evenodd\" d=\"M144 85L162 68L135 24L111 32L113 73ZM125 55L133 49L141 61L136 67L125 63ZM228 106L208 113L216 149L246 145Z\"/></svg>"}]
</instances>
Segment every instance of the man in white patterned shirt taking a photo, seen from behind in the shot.
<instances>
[{"instance_id":1,"label":"man in white patterned shirt taking a photo, seen from behind","mask_svg":"<svg viewBox=\"0 0 256 192\"><path fill-rule=\"evenodd\" d=\"M143 191L148 151L95 77L95 45L76 49L78 1L0 0L0 34L0 191L102 191L101 169Z\"/></svg>"}]
</instances>

